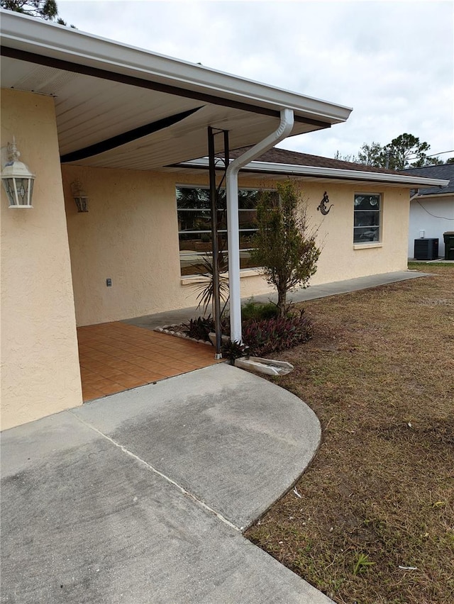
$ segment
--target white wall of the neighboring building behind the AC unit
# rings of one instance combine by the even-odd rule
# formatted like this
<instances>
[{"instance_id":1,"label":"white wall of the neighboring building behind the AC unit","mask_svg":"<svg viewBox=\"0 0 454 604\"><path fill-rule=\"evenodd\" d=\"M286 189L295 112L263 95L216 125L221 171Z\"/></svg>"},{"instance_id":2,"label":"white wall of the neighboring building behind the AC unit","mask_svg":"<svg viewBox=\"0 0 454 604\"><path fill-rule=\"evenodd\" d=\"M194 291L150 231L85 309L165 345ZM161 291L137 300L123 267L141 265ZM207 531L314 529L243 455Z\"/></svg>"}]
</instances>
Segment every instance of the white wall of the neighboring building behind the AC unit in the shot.
<instances>
[{"instance_id":1,"label":"white wall of the neighboring building behind the AC unit","mask_svg":"<svg viewBox=\"0 0 454 604\"><path fill-rule=\"evenodd\" d=\"M454 195L423 197L410 202L409 258L414 257L414 240L421 237L438 238L438 256L444 257L443 233L454 230Z\"/></svg>"}]
</instances>

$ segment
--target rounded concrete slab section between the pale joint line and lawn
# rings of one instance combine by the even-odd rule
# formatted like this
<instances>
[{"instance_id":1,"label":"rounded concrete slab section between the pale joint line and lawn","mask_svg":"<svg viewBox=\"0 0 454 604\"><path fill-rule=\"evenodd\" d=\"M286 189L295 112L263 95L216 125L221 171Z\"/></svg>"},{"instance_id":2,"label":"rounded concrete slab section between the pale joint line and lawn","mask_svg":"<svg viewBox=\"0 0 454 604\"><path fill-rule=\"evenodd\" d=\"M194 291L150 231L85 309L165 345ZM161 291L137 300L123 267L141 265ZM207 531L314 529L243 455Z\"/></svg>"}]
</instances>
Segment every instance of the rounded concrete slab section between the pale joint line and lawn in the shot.
<instances>
[{"instance_id":1,"label":"rounded concrete slab section between the pale joint line and lawn","mask_svg":"<svg viewBox=\"0 0 454 604\"><path fill-rule=\"evenodd\" d=\"M306 403L228 364L72 413L240 529L301 476L321 439L319 420Z\"/></svg>"}]
</instances>

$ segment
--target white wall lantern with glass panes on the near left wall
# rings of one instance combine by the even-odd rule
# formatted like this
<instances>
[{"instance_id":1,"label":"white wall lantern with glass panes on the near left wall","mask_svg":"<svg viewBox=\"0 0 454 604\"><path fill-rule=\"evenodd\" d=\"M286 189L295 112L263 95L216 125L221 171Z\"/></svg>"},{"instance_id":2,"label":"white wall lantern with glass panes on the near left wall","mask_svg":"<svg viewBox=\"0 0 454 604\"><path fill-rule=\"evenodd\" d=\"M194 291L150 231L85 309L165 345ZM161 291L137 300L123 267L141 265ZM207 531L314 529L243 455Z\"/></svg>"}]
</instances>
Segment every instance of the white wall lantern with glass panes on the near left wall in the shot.
<instances>
[{"instance_id":1,"label":"white wall lantern with glass panes on the near left wall","mask_svg":"<svg viewBox=\"0 0 454 604\"><path fill-rule=\"evenodd\" d=\"M35 174L32 174L26 164L19 162L21 153L17 150L16 140L8 143L6 147L8 161L1 170L1 180L9 200L10 208L33 208L31 205L33 195L33 182Z\"/></svg>"}]
</instances>

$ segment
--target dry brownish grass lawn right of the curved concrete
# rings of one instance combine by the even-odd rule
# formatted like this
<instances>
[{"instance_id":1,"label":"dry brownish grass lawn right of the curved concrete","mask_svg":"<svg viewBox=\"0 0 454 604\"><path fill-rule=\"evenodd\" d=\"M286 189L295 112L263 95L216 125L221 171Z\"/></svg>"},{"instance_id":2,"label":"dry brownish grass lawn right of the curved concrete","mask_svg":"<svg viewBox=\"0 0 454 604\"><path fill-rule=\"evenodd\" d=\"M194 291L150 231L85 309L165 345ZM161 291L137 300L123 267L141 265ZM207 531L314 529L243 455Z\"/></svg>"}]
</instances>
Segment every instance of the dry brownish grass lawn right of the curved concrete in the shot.
<instances>
[{"instance_id":1,"label":"dry brownish grass lawn right of the curved concrete","mask_svg":"<svg viewBox=\"0 0 454 604\"><path fill-rule=\"evenodd\" d=\"M314 339L279 356L323 437L246 536L337 603L454 602L454 265L411 268L304 303Z\"/></svg>"}]
</instances>

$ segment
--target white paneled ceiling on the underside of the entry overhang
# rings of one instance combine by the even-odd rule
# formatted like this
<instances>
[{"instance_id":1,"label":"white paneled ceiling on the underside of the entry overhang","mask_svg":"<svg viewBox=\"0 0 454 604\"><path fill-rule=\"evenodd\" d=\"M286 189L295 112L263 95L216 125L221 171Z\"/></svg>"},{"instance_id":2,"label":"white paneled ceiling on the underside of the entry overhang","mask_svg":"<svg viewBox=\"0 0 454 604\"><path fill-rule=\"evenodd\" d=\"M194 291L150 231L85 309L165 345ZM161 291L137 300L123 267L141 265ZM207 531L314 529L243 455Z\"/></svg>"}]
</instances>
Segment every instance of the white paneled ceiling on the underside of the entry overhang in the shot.
<instances>
[{"instance_id":1,"label":"white paneled ceiling on the underside of the entry overhang","mask_svg":"<svg viewBox=\"0 0 454 604\"><path fill-rule=\"evenodd\" d=\"M206 128L209 125L229 131L232 149L255 144L279 125L279 118L275 116L204 103L11 57L2 58L1 83L6 88L46 94L55 99L62 156L165 118L194 111L191 116L178 119L175 124L155 133L140 136L134 142L85 159L70 160L92 167L157 169L206 155ZM292 135L320 128L322 126L296 122ZM222 150L222 137L218 137L215 145L216 152Z\"/></svg>"}]
</instances>

